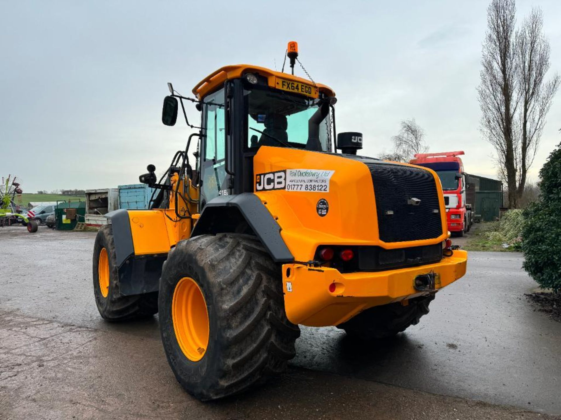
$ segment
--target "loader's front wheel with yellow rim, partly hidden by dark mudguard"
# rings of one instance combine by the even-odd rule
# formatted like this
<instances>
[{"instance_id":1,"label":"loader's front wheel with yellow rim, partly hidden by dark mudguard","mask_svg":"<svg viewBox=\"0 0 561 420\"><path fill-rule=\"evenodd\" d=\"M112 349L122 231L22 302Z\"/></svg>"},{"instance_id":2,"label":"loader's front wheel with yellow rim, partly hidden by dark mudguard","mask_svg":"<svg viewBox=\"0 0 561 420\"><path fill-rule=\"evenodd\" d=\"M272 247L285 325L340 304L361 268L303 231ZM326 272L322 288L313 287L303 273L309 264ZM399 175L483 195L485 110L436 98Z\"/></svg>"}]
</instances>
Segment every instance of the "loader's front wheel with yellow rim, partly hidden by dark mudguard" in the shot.
<instances>
[{"instance_id":1,"label":"loader's front wheel with yellow rim, partly hidden by dark mudguard","mask_svg":"<svg viewBox=\"0 0 561 420\"><path fill-rule=\"evenodd\" d=\"M158 292L121 296L113 226L104 225L95 237L93 274L95 304L107 321L146 318L158 312Z\"/></svg>"}]
</instances>

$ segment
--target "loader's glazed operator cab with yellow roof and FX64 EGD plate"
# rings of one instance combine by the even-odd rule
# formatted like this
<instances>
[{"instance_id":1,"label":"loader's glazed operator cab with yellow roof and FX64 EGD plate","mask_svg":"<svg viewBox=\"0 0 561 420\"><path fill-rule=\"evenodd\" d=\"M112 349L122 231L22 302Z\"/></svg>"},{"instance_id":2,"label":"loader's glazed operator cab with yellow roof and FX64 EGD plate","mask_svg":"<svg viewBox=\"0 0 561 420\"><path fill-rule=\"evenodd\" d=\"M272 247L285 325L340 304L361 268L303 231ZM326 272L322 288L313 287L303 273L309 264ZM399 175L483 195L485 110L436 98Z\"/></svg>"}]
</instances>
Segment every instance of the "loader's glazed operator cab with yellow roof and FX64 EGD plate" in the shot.
<instances>
[{"instance_id":1,"label":"loader's glazed operator cab with yellow roof and FX64 EGD plate","mask_svg":"<svg viewBox=\"0 0 561 420\"><path fill-rule=\"evenodd\" d=\"M200 209L219 195L253 192L261 146L333 151L334 92L255 66L226 66L193 89L202 104Z\"/></svg>"}]
</instances>

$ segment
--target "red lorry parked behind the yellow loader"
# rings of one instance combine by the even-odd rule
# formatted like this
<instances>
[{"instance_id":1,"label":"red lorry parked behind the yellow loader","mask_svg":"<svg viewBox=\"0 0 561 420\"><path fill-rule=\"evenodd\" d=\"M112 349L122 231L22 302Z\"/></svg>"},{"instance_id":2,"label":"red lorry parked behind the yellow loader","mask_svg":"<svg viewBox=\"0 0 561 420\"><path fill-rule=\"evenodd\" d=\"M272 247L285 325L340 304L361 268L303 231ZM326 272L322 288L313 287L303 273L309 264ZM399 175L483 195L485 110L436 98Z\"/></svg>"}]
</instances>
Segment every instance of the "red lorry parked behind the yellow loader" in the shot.
<instances>
[{"instance_id":1,"label":"red lorry parked behind the yellow loader","mask_svg":"<svg viewBox=\"0 0 561 420\"><path fill-rule=\"evenodd\" d=\"M444 193L448 230L463 236L473 223L471 203L466 203L466 173L459 155L463 151L442 153L416 153L410 161L413 165L424 166L438 174Z\"/></svg>"}]
</instances>

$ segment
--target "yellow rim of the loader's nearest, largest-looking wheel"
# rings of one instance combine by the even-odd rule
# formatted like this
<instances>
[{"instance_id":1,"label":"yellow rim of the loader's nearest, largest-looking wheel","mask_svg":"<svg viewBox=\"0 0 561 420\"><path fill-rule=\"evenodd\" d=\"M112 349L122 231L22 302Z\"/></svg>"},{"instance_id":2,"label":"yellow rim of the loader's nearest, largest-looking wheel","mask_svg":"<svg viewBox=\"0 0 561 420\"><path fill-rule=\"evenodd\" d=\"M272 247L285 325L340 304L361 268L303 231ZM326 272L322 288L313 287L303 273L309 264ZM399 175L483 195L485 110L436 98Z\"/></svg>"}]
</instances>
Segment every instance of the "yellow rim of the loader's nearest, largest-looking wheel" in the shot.
<instances>
[{"instance_id":1,"label":"yellow rim of the loader's nearest, largest-looking wheel","mask_svg":"<svg viewBox=\"0 0 561 420\"><path fill-rule=\"evenodd\" d=\"M191 277L183 277L173 291L172 320L183 354L201 360L209 343L209 314L203 291Z\"/></svg>"}]
</instances>

